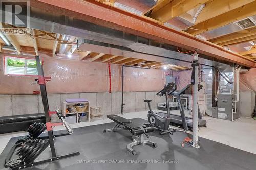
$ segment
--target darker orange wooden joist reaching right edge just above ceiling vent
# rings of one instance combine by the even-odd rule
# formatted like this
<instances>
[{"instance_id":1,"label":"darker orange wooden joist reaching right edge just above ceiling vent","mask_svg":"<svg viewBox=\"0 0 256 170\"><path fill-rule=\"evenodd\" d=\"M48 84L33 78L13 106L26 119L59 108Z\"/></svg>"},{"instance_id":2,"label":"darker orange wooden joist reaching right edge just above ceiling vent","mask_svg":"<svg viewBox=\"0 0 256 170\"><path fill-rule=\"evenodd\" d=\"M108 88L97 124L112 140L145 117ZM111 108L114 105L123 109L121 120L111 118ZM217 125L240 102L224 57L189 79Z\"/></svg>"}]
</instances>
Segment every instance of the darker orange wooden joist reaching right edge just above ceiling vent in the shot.
<instances>
[{"instance_id":1,"label":"darker orange wooden joist reaching right edge just above ceiling vent","mask_svg":"<svg viewBox=\"0 0 256 170\"><path fill-rule=\"evenodd\" d=\"M187 32L193 35L198 35L203 32L207 32L228 25L229 23L232 23L234 21L239 21L249 16L256 15L255 6L256 1L253 1L242 7L230 10L229 12L198 23L197 25L191 27L193 29L188 29Z\"/></svg>"}]
</instances>

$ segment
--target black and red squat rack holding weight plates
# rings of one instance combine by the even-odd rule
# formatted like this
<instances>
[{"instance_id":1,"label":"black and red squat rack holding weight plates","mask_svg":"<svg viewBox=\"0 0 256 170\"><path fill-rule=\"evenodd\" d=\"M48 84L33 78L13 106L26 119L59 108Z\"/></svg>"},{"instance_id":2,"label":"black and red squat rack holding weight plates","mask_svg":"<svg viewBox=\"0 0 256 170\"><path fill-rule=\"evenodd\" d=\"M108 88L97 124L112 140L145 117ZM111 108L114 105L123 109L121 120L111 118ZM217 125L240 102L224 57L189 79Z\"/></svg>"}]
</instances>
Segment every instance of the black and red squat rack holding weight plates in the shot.
<instances>
[{"instance_id":1,"label":"black and red squat rack holding weight plates","mask_svg":"<svg viewBox=\"0 0 256 170\"><path fill-rule=\"evenodd\" d=\"M56 155L55 145L54 145L54 137L63 136L63 135L70 135L73 133L73 130L70 128L69 124L65 121L65 116L59 111L49 111L48 105L48 98L47 98L47 91L46 91L46 82L50 81L51 77L45 77L44 71L42 69L40 58L39 56L35 56L36 59L36 66L38 71L38 79L35 81L40 85L40 91L42 96L42 103L44 105L44 112L46 117L46 124L44 123L33 123L27 129L29 132L29 136L22 137L18 139L16 144L12 147L11 151L7 155L5 159L5 167L10 167L11 169L23 169L27 167L36 166L42 163L52 162L59 159L79 155L78 151L65 154L65 155ZM61 122L52 123L51 122L51 115L57 114ZM63 125L66 127L68 133L54 135L52 128L54 126ZM40 137L39 135L44 131L47 130L48 136ZM35 160L46 148L50 146L51 149L51 157L42 159L42 160ZM14 157L15 152L15 158Z\"/></svg>"}]
</instances>

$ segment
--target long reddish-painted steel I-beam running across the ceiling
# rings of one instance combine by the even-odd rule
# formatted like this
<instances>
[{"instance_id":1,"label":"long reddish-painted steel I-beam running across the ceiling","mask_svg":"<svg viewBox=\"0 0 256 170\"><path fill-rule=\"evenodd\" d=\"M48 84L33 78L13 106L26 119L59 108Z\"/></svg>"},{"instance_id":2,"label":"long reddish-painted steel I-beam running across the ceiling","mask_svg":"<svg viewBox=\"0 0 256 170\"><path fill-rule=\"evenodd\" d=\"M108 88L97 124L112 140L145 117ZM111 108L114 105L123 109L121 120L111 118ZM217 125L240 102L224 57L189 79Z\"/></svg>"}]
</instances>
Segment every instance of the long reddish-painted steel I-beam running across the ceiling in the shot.
<instances>
[{"instance_id":1,"label":"long reddish-painted steel I-beam running across the ceiling","mask_svg":"<svg viewBox=\"0 0 256 170\"><path fill-rule=\"evenodd\" d=\"M214 43L200 40L193 35L168 28L163 23L145 16L138 16L95 0L31 0L30 6L46 11L56 11L61 15L85 20L97 25L147 37L162 43L197 49L198 53L250 68L255 61L225 50Z\"/></svg>"}]
</instances>

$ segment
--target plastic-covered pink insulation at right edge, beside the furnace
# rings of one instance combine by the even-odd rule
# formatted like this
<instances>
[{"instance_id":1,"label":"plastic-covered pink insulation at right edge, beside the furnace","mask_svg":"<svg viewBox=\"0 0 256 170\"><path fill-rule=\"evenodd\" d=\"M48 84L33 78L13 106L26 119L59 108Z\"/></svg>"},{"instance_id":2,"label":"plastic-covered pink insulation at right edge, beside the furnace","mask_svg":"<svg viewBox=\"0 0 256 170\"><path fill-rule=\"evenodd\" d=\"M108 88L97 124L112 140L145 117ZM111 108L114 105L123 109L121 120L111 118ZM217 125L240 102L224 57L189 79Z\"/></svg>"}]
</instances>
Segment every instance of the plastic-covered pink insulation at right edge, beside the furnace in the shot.
<instances>
[{"instance_id":1,"label":"plastic-covered pink insulation at right edge, beside the furnace","mask_svg":"<svg viewBox=\"0 0 256 170\"><path fill-rule=\"evenodd\" d=\"M240 73L240 92L256 92L256 68L251 68L246 73Z\"/></svg>"}]
</instances>

